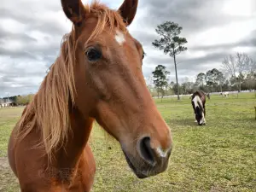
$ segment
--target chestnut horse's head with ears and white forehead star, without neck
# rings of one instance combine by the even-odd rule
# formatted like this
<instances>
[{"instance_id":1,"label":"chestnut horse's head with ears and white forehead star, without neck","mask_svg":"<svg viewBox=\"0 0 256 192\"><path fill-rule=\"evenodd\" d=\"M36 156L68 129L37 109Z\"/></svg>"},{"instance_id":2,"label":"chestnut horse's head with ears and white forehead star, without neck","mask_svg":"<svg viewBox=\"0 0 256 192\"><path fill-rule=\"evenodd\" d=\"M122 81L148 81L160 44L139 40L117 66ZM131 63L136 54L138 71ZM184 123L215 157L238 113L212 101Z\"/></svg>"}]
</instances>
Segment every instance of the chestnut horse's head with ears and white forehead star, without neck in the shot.
<instances>
[{"instance_id":1,"label":"chestnut horse's head with ears and white forehead star, without neck","mask_svg":"<svg viewBox=\"0 0 256 192\"><path fill-rule=\"evenodd\" d=\"M73 105L120 143L132 171L143 178L166 170L172 136L143 78L143 45L127 30L137 3L125 0L115 11L61 0L73 22Z\"/></svg>"}]
</instances>

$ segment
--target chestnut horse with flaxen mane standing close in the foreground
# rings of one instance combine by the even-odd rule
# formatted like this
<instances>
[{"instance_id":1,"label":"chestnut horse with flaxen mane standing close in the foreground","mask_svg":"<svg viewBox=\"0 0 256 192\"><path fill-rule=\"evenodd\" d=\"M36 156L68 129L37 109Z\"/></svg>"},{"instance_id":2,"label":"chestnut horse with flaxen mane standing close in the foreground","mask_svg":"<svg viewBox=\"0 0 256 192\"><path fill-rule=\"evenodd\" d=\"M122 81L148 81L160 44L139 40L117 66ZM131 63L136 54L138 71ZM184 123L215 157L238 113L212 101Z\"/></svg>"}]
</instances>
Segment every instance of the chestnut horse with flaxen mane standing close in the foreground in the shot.
<instances>
[{"instance_id":1,"label":"chestnut horse with flaxen mane standing close in the foreground","mask_svg":"<svg viewBox=\"0 0 256 192\"><path fill-rule=\"evenodd\" d=\"M137 3L125 0L113 10L61 0L73 29L9 139L9 165L22 192L90 191L95 120L119 142L137 177L166 171L171 130L143 79L143 46L127 30Z\"/></svg>"}]
</instances>

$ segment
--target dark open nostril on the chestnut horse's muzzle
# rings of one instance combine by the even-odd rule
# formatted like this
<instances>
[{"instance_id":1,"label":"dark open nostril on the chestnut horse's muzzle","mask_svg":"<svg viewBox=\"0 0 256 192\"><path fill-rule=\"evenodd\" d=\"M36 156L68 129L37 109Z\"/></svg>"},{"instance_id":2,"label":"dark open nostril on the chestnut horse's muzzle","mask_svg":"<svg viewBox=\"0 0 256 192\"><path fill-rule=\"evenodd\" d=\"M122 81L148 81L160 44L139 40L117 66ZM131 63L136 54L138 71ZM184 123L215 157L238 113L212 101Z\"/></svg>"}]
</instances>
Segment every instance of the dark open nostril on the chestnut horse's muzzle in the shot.
<instances>
[{"instance_id":1,"label":"dark open nostril on the chestnut horse's muzzle","mask_svg":"<svg viewBox=\"0 0 256 192\"><path fill-rule=\"evenodd\" d=\"M139 152L143 160L152 166L155 165L153 148L150 146L150 137L143 137L141 139L139 143Z\"/></svg>"}]
</instances>

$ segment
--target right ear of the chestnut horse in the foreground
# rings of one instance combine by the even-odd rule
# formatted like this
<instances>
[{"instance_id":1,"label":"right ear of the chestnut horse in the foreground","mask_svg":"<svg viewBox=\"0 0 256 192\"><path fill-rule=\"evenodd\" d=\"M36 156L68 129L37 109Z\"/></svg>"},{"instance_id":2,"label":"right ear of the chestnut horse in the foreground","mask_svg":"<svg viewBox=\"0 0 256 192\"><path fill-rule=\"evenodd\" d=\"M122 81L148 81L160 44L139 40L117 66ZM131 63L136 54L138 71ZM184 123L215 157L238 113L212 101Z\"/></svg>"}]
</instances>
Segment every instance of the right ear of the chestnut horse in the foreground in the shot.
<instances>
[{"instance_id":1,"label":"right ear of the chestnut horse in the foreground","mask_svg":"<svg viewBox=\"0 0 256 192\"><path fill-rule=\"evenodd\" d=\"M123 17L127 26L129 26L134 19L137 12L138 0L125 0L119 7L119 13Z\"/></svg>"}]
</instances>

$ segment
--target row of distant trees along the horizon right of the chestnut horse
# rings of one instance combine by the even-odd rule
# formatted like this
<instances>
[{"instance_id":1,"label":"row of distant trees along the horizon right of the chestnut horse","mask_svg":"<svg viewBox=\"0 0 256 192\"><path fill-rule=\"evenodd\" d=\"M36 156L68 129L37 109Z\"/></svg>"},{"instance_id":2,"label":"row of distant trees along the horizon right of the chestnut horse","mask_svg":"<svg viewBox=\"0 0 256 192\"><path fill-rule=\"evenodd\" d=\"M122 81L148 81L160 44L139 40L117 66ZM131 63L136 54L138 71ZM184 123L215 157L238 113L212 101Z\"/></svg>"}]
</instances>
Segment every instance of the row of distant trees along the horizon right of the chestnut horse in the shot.
<instances>
[{"instance_id":1,"label":"row of distant trees along the horizon right of the chestnut horse","mask_svg":"<svg viewBox=\"0 0 256 192\"><path fill-rule=\"evenodd\" d=\"M198 73L195 82L185 80L182 84L170 82L170 72L165 66L158 65L148 79L148 90L152 96L191 94L195 90L205 92L222 92L256 90L256 61L246 53L237 52L228 55L222 62L221 69L212 68L207 72Z\"/></svg>"}]
</instances>

